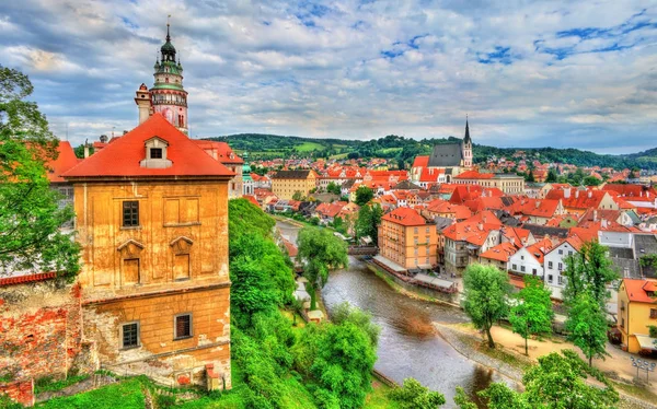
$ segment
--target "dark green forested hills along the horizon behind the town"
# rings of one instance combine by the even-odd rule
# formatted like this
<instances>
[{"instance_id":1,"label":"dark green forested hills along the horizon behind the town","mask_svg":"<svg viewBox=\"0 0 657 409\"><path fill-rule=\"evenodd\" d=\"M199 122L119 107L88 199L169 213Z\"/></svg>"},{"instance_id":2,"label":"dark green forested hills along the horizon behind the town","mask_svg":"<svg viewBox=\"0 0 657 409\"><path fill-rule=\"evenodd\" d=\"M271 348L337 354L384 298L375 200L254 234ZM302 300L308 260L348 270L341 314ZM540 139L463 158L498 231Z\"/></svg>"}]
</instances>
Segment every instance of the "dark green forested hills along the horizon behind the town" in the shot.
<instances>
[{"instance_id":1,"label":"dark green forested hills along the horizon behind the town","mask_svg":"<svg viewBox=\"0 0 657 409\"><path fill-rule=\"evenodd\" d=\"M240 154L247 152L250 159L274 159L296 156L313 157L394 157L406 164L417 155L429 154L435 144L458 142L460 139L433 138L416 140L388 136L369 141L348 139L320 139L303 137L284 137L263 133L239 133L226 137L208 138L228 142ZM474 160L484 162L491 156L511 157L517 151L527 153L527 159L541 162L569 163L577 166L602 166L622 168L657 170L657 148L625 155L602 155L578 149L555 148L495 148L474 144Z\"/></svg>"}]
</instances>

